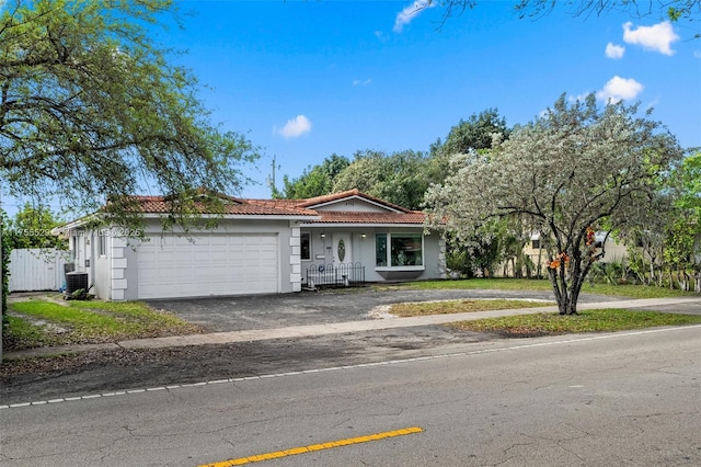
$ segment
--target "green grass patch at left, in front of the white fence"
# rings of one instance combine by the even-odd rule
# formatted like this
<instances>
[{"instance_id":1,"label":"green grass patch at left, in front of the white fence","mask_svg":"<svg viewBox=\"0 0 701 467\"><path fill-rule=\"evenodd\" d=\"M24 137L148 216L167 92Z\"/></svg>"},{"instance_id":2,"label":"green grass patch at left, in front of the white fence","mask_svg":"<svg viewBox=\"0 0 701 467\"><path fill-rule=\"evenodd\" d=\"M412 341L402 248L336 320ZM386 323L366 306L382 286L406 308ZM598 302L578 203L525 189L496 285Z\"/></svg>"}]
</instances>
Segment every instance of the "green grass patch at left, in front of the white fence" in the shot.
<instances>
[{"instance_id":1,"label":"green grass patch at left, in front of the white fence","mask_svg":"<svg viewBox=\"0 0 701 467\"><path fill-rule=\"evenodd\" d=\"M200 332L182 319L138 301L28 300L10 304L14 316L3 331L7 350L115 342Z\"/></svg>"}]
</instances>

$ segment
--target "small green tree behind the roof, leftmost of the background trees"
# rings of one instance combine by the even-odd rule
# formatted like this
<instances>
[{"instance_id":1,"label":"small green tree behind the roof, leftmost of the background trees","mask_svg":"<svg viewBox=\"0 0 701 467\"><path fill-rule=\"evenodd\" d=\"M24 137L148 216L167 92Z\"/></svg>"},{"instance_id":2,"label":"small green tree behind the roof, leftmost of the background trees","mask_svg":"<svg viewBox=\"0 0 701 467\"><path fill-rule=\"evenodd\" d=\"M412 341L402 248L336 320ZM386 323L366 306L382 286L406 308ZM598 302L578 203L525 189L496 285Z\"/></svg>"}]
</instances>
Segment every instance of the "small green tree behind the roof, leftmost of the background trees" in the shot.
<instances>
[{"instance_id":1,"label":"small green tree behind the roof, leftmost of the background trees","mask_svg":"<svg viewBox=\"0 0 701 467\"><path fill-rule=\"evenodd\" d=\"M283 178L283 194L285 200L303 200L322 196L333 191L336 176L350 164L350 161L336 153L331 155L320 166L308 167L302 174L295 180L287 175Z\"/></svg>"}]
</instances>

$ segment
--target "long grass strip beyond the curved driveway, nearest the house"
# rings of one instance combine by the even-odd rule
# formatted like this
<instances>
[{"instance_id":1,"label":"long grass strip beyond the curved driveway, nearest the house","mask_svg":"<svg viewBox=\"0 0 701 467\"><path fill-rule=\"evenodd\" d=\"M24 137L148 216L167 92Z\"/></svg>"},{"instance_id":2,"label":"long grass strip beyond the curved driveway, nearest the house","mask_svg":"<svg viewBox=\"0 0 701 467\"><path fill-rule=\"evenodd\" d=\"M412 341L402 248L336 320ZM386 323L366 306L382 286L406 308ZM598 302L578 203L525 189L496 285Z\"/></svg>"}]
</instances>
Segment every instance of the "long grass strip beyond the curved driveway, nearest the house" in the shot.
<instances>
[{"instance_id":1,"label":"long grass strip beyond the curved driveway, nearest the house","mask_svg":"<svg viewBox=\"0 0 701 467\"><path fill-rule=\"evenodd\" d=\"M378 289L494 289L494 291L552 291L550 281L529 278L470 278L463 281L422 281L377 286ZM584 284L584 294L609 295L629 298L668 298L696 296L693 292L673 291L664 287L632 284Z\"/></svg>"}]
</instances>

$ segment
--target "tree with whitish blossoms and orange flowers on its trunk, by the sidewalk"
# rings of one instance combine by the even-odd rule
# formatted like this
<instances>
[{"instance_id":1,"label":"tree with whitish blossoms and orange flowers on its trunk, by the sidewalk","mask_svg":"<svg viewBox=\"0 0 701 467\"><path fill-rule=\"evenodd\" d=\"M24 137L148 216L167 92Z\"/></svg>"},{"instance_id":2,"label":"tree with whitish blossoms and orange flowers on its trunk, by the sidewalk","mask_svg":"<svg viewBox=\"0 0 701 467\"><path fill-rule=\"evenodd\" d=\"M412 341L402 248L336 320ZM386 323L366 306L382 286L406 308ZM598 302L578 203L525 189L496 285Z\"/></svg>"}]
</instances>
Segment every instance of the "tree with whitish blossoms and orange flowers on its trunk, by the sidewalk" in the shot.
<instances>
[{"instance_id":1,"label":"tree with whitish blossoms and orange flowers on its trunk, by the sidewalk","mask_svg":"<svg viewBox=\"0 0 701 467\"><path fill-rule=\"evenodd\" d=\"M681 156L650 111L563 94L508 140L495 135L491 150L456 155L453 173L426 194L428 224L470 239L493 219L517 219L547 249L560 314L576 315L582 285L605 254L595 231L625 229L650 213Z\"/></svg>"}]
</instances>

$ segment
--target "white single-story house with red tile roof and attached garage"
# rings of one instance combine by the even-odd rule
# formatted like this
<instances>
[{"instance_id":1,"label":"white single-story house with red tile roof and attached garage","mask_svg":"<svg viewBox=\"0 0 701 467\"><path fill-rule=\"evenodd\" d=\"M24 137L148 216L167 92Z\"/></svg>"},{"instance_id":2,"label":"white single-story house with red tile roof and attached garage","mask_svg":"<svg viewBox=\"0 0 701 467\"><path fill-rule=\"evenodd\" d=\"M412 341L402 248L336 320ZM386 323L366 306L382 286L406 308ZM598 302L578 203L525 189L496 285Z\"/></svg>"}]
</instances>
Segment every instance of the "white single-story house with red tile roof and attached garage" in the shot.
<instances>
[{"instance_id":1,"label":"white single-story house with red tile roof and attached garage","mask_svg":"<svg viewBox=\"0 0 701 467\"><path fill-rule=\"evenodd\" d=\"M313 275L320 270L348 264L363 267L367 282L445 276L445 242L424 234L421 212L357 190L310 200L221 198L218 227L188 236L162 229L163 196L137 197L149 241L128 239L119 226L91 229L90 218L57 230L69 238L90 292L111 300L300 292L324 282Z\"/></svg>"}]
</instances>

